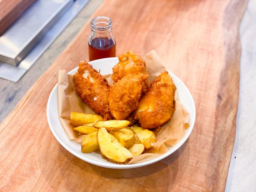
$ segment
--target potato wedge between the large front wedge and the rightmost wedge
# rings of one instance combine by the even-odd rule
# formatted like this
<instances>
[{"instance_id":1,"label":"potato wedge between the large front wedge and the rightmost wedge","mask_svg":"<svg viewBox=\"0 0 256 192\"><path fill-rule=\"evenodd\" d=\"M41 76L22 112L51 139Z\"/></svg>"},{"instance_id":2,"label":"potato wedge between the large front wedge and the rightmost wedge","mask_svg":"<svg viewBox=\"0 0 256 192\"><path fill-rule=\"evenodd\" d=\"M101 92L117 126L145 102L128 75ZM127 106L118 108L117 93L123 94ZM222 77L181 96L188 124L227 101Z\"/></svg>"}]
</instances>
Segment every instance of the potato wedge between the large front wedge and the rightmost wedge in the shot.
<instances>
[{"instance_id":1,"label":"potato wedge between the large front wedge and the rightmost wedge","mask_svg":"<svg viewBox=\"0 0 256 192\"><path fill-rule=\"evenodd\" d=\"M130 148L135 143L135 138L133 137L133 131L128 128L123 128L118 131L110 131L113 136L121 143L125 148Z\"/></svg>"}]
</instances>

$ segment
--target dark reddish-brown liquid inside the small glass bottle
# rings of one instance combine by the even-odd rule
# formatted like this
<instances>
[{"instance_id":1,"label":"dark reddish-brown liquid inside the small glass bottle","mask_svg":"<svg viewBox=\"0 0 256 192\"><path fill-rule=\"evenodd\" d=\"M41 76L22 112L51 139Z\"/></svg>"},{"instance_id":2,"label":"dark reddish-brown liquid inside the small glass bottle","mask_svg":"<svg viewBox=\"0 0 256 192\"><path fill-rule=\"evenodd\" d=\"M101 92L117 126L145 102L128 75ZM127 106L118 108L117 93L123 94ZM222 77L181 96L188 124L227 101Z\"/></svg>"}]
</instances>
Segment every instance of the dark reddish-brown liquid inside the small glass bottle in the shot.
<instances>
[{"instance_id":1,"label":"dark reddish-brown liquid inside the small glass bottle","mask_svg":"<svg viewBox=\"0 0 256 192\"><path fill-rule=\"evenodd\" d=\"M111 38L96 37L89 44L89 61L115 56L116 44Z\"/></svg>"}]
</instances>

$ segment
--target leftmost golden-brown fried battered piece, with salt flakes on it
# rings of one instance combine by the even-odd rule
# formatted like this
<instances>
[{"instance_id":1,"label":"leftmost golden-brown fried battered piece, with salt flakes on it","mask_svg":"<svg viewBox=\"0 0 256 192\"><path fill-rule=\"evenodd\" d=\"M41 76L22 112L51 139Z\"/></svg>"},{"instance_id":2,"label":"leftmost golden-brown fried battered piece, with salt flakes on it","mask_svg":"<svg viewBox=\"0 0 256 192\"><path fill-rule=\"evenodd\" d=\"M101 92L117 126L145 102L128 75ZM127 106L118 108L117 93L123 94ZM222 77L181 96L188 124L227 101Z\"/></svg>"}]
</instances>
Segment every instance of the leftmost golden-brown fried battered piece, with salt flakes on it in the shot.
<instances>
[{"instance_id":1,"label":"leftmost golden-brown fried battered piece, with salt flakes on it","mask_svg":"<svg viewBox=\"0 0 256 192\"><path fill-rule=\"evenodd\" d=\"M74 74L77 94L104 120L112 119L108 108L108 81L86 61L80 61L77 73Z\"/></svg>"}]
</instances>

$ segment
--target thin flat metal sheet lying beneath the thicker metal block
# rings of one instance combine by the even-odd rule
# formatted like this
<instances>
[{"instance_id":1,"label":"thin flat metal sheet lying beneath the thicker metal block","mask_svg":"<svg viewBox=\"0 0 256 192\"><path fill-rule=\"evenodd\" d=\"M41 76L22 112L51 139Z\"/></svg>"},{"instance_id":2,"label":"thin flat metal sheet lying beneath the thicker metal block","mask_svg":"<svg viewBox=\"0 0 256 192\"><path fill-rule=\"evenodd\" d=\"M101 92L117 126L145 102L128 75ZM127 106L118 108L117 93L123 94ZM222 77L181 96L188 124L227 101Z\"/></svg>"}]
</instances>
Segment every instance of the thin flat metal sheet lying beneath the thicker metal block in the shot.
<instances>
[{"instance_id":1,"label":"thin flat metal sheet lying beneath the thicker metal block","mask_svg":"<svg viewBox=\"0 0 256 192\"><path fill-rule=\"evenodd\" d=\"M39 56L42 55L42 53L54 41L54 39L56 39L57 36L74 19L74 17L80 12L80 10L87 4L88 1L89 0L74 1L71 4L71 7L62 15L62 17L56 22L56 24L54 24L54 26L43 36L43 38L34 46L32 51L30 51L30 53L27 54L24 60L22 60L17 67L7 63L0 63L0 78L17 82L34 64L34 62L39 58Z\"/></svg>"}]
</instances>

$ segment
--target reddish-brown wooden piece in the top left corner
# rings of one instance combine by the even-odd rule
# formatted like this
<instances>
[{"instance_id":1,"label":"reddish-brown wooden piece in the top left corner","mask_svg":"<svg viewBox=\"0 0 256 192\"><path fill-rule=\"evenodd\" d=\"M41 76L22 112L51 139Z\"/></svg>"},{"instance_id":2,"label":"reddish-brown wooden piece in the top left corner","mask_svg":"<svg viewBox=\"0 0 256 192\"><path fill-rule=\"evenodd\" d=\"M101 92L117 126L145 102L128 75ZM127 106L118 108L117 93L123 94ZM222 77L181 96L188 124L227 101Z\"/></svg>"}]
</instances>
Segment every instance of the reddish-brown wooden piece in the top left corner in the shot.
<instances>
[{"instance_id":1,"label":"reddish-brown wooden piece in the top left corner","mask_svg":"<svg viewBox=\"0 0 256 192\"><path fill-rule=\"evenodd\" d=\"M0 0L0 35L3 34L34 1L35 0Z\"/></svg>"}]
</instances>

